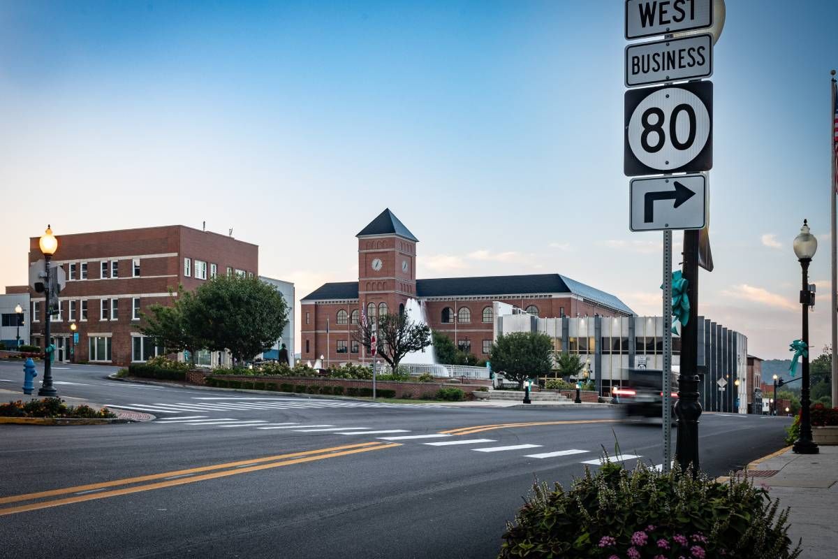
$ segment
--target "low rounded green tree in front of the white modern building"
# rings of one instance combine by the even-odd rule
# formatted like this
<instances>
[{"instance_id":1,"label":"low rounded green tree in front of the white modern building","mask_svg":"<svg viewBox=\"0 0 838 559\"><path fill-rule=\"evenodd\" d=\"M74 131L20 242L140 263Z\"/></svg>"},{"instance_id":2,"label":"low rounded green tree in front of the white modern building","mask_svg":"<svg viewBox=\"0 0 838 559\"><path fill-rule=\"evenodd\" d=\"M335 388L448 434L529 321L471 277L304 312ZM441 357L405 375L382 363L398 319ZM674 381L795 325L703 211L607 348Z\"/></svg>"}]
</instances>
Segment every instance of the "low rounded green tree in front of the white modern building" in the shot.
<instances>
[{"instance_id":1,"label":"low rounded green tree in front of the white modern building","mask_svg":"<svg viewBox=\"0 0 838 559\"><path fill-rule=\"evenodd\" d=\"M521 388L527 378L550 372L552 350L553 341L547 334L513 332L498 336L492 344L489 360L493 370L502 372L509 380L515 380Z\"/></svg>"}]
</instances>

